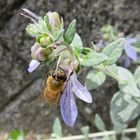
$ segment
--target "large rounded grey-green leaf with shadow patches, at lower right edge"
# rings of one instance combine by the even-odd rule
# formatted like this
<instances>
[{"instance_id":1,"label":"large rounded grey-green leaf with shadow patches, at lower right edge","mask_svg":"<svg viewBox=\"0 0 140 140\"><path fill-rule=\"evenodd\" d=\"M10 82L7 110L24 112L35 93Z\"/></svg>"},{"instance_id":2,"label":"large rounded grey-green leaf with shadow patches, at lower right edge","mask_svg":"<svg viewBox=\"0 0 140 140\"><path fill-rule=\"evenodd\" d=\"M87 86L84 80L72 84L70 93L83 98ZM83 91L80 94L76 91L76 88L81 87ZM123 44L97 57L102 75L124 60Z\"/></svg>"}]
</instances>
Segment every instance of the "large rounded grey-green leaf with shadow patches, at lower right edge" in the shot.
<instances>
[{"instance_id":1,"label":"large rounded grey-green leaf with shadow patches, at lower right edge","mask_svg":"<svg viewBox=\"0 0 140 140\"><path fill-rule=\"evenodd\" d=\"M118 128L121 128L119 125L134 120L140 114L140 104L135 102L133 98L129 100L130 102L125 100L125 93L123 92L116 93L111 100L111 119Z\"/></svg>"}]
</instances>

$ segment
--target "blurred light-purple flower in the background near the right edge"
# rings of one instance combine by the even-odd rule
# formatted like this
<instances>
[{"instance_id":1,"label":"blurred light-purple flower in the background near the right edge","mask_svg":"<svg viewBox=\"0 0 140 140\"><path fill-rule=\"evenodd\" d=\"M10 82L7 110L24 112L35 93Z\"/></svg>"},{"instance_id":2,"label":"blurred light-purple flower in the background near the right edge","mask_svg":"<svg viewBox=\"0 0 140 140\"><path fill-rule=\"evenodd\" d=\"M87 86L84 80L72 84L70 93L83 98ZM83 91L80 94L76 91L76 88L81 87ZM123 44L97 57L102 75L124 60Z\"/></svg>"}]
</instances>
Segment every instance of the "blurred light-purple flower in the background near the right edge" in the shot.
<instances>
[{"instance_id":1,"label":"blurred light-purple flower in the background near the right edge","mask_svg":"<svg viewBox=\"0 0 140 140\"><path fill-rule=\"evenodd\" d=\"M125 50L126 54L133 61L136 61L137 57L138 57L137 52L133 47L133 43L136 43L136 42L137 42L136 38L127 38L124 43L124 50Z\"/></svg>"}]
</instances>

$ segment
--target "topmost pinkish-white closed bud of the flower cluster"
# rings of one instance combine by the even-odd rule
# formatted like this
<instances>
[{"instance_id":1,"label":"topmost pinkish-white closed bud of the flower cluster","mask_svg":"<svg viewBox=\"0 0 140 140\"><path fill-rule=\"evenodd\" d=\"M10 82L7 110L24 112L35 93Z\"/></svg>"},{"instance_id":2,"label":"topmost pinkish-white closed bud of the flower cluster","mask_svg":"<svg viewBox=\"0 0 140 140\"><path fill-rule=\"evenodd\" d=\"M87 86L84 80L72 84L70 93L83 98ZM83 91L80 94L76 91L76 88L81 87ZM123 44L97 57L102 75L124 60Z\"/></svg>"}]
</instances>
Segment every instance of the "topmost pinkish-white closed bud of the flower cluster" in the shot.
<instances>
[{"instance_id":1,"label":"topmost pinkish-white closed bud of the flower cluster","mask_svg":"<svg viewBox=\"0 0 140 140\"><path fill-rule=\"evenodd\" d=\"M50 25L59 28L61 24L59 14L57 12L48 12L47 15Z\"/></svg>"}]
</instances>

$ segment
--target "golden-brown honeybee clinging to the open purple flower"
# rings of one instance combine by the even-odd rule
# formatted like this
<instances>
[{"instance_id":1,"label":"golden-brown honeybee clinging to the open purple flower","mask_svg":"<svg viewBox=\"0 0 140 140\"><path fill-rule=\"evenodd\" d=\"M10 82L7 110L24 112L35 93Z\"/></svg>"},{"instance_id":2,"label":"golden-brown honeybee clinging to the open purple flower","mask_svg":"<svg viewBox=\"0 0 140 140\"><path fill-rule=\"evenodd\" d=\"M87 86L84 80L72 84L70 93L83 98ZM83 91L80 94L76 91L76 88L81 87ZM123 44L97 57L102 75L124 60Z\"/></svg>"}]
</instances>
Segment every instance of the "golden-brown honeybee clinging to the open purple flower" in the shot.
<instances>
[{"instance_id":1,"label":"golden-brown honeybee clinging to the open purple flower","mask_svg":"<svg viewBox=\"0 0 140 140\"><path fill-rule=\"evenodd\" d=\"M61 68L48 76L44 88L44 97L48 103L55 104L59 101L65 87L66 78L66 72Z\"/></svg>"}]
</instances>

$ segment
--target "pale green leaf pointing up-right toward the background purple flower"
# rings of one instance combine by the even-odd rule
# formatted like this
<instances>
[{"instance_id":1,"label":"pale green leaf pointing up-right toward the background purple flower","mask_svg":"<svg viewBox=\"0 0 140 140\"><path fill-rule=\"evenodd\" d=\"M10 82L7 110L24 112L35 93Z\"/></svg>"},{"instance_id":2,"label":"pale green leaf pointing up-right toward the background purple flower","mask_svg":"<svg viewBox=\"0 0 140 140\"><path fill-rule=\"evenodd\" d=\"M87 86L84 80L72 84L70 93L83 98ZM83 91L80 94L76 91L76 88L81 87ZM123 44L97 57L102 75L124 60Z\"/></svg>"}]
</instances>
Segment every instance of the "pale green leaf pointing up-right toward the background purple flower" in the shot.
<instances>
[{"instance_id":1,"label":"pale green leaf pointing up-right toward the background purple flower","mask_svg":"<svg viewBox=\"0 0 140 140\"><path fill-rule=\"evenodd\" d=\"M114 64L117 59L121 56L123 51L124 38L118 39L110 44L108 44L102 51L106 56L108 56L108 60L106 60L106 65Z\"/></svg>"}]
</instances>

